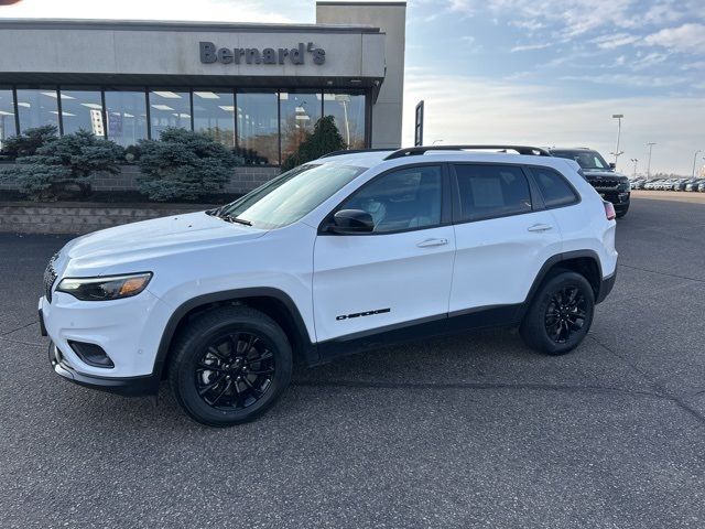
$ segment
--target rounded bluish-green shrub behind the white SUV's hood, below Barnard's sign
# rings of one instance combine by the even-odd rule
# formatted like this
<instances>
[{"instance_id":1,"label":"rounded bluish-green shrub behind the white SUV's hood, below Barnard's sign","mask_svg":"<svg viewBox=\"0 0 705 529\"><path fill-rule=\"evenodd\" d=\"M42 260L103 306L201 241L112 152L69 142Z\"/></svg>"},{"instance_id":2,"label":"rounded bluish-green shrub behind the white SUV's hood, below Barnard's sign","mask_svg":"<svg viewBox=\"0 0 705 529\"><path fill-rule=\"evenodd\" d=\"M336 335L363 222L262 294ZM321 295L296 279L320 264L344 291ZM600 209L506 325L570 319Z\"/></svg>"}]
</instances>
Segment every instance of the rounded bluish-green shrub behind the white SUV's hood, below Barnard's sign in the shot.
<instances>
[{"instance_id":1,"label":"rounded bluish-green shrub behind the white SUV's hood, below Barnard's sign","mask_svg":"<svg viewBox=\"0 0 705 529\"><path fill-rule=\"evenodd\" d=\"M200 132L167 128L159 140L140 140L138 188L152 201L195 201L223 192L241 164L225 145Z\"/></svg>"}]
</instances>

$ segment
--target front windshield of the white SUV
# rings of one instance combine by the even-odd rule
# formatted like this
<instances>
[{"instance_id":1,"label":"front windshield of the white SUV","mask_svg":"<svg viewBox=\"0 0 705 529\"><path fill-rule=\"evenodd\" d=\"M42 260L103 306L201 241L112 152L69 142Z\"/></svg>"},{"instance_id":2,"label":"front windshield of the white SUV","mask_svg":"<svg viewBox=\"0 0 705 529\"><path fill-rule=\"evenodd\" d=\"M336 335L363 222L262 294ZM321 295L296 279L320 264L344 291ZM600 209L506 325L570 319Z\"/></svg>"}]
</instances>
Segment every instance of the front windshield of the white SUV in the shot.
<instances>
[{"instance_id":1,"label":"front windshield of the white SUV","mask_svg":"<svg viewBox=\"0 0 705 529\"><path fill-rule=\"evenodd\" d=\"M295 223L311 213L367 168L305 164L288 171L216 214L263 229Z\"/></svg>"}]
</instances>

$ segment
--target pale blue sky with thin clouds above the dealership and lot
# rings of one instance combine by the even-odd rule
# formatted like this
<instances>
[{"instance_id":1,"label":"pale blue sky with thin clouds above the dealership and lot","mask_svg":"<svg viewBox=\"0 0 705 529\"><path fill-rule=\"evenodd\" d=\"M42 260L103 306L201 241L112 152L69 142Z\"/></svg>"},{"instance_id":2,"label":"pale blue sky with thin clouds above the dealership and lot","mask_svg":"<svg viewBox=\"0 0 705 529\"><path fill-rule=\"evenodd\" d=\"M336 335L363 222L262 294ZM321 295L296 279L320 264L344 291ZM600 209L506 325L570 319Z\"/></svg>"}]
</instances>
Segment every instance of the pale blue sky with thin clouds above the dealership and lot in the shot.
<instances>
[{"instance_id":1,"label":"pale blue sky with thin clouds above the dealership and lot","mask_svg":"<svg viewBox=\"0 0 705 529\"><path fill-rule=\"evenodd\" d=\"M8 0L0 0L7 3ZM10 0L11 1L11 0ZM315 22L315 0L21 0L0 18ZM409 0L403 144L598 149L690 174L705 151L704 0ZM697 155L697 165L703 165Z\"/></svg>"}]
</instances>

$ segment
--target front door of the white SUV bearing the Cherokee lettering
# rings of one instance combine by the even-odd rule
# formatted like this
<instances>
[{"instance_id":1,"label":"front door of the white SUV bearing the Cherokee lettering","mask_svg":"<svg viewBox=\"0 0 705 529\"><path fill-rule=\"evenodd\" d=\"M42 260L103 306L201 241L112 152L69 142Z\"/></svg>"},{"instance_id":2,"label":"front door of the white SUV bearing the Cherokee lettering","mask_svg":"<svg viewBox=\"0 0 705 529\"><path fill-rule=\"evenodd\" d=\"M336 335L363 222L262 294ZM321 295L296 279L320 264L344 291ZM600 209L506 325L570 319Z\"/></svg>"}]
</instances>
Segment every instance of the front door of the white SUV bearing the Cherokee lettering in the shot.
<instances>
[{"instance_id":1,"label":"front door of the white SUV bearing the Cherokee lettering","mask_svg":"<svg viewBox=\"0 0 705 529\"><path fill-rule=\"evenodd\" d=\"M343 209L361 210L371 216L373 229L316 238L318 342L445 319L455 252L447 182L442 164L392 170L366 183L324 220L330 223Z\"/></svg>"}]
</instances>

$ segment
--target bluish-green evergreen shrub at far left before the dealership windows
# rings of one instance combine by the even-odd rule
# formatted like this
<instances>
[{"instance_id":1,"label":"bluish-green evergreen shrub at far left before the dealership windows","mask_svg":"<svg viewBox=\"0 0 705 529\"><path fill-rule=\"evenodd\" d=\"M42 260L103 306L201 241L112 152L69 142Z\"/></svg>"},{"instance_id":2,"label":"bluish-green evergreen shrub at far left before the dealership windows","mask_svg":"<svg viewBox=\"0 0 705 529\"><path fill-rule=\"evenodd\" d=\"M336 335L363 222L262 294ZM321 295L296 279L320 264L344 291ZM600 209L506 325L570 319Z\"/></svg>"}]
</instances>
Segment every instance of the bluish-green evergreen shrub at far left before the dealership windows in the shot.
<instances>
[{"instance_id":1,"label":"bluish-green evergreen shrub at far left before the dealership windows","mask_svg":"<svg viewBox=\"0 0 705 529\"><path fill-rule=\"evenodd\" d=\"M17 163L3 170L3 180L17 182L20 191L33 201L86 198L93 191L96 173L120 171L122 148L87 130L43 141L33 154L18 158Z\"/></svg>"}]
</instances>

